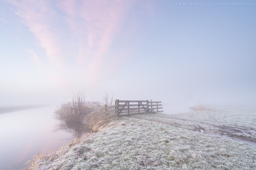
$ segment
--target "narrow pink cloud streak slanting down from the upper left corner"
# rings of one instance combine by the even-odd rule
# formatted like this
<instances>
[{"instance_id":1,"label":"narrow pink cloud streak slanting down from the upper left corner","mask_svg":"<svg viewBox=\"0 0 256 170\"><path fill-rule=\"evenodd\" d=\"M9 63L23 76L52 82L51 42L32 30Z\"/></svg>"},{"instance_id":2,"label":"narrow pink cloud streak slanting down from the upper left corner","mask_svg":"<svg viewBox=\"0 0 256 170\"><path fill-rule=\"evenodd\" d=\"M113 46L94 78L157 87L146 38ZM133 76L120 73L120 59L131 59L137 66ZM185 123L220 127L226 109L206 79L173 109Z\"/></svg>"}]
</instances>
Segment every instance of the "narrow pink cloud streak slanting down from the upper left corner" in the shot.
<instances>
[{"instance_id":1,"label":"narrow pink cloud streak slanting down from the upper left corner","mask_svg":"<svg viewBox=\"0 0 256 170\"><path fill-rule=\"evenodd\" d=\"M48 1L8 1L16 7L16 14L35 34L40 46L45 49L49 61L58 68L63 67L63 54L60 43L52 29L52 18L56 16Z\"/></svg>"}]
</instances>

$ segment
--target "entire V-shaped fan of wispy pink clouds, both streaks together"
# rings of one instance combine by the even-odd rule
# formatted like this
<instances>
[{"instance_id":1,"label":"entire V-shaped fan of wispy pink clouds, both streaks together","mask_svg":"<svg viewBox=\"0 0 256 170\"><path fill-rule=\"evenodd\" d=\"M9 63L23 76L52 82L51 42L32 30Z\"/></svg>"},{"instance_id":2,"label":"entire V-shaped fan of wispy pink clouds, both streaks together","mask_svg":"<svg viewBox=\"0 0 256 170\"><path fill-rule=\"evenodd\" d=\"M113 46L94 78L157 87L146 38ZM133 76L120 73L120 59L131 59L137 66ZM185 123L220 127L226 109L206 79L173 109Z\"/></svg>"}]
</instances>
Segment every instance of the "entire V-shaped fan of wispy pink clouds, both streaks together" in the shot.
<instances>
[{"instance_id":1,"label":"entire V-shaped fan of wispy pink clouds, both streaks together","mask_svg":"<svg viewBox=\"0 0 256 170\"><path fill-rule=\"evenodd\" d=\"M104 74L102 67L107 58L111 58L108 55L111 45L124 22L124 16L136 1L8 2L14 5L17 16L35 34L39 45L45 49L52 70L57 68L58 71L51 73L51 77L56 74L53 77L61 76L59 80L65 79L65 74L59 75L60 70L62 73L67 72L70 71L67 68L71 67L76 69L74 73L82 73L80 75L83 78L93 81ZM41 64L41 59L33 50L28 50L28 53L36 64ZM120 60L120 57L117 58Z\"/></svg>"}]
</instances>

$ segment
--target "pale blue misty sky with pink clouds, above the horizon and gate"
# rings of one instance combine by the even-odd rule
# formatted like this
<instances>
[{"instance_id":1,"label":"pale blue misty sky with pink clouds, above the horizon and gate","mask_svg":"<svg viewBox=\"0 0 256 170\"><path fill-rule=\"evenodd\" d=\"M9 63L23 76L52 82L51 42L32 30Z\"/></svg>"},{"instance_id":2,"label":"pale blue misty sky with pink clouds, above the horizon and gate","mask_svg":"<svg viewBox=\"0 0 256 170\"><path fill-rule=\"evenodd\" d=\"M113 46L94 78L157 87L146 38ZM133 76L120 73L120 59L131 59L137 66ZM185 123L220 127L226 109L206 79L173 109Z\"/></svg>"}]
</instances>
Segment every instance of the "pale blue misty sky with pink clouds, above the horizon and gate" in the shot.
<instances>
[{"instance_id":1,"label":"pale blue misty sky with pink clouds, above the horizon and gate","mask_svg":"<svg viewBox=\"0 0 256 170\"><path fill-rule=\"evenodd\" d=\"M87 101L107 91L164 107L255 104L255 7L252 0L2 0L0 107L61 104L79 90Z\"/></svg>"}]
</instances>

